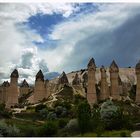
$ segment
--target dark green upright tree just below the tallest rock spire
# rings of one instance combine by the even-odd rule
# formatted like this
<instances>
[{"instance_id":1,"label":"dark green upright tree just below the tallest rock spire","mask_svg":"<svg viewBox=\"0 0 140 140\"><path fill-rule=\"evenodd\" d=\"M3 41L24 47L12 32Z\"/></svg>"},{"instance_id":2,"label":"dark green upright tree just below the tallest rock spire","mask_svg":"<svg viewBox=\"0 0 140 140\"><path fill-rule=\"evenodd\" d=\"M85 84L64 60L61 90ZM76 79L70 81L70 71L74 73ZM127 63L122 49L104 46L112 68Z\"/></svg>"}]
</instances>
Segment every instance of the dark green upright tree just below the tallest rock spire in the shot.
<instances>
[{"instance_id":1,"label":"dark green upright tree just below the tallest rock spire","mask_svg":"<svg viewBox=\"0 0 140 140\"><path fill-rule=\"evenodd\" d=\"M91 110L90 105L87 102L82 102L78 105L78 124L81 134L84 134L89 130Z\"/></svg>"}]
</instances>

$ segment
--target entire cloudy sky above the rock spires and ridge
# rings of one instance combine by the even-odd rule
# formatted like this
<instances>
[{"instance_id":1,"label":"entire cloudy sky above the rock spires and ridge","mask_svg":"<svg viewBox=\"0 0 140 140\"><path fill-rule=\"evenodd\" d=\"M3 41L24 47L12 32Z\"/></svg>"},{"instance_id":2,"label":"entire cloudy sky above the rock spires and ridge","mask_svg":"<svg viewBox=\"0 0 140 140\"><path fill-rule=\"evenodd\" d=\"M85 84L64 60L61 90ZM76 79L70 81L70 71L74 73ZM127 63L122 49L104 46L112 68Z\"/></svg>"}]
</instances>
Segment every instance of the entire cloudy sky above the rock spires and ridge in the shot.
<instances>
[{"instance_id":1,"label":"entire cloudy sky above the rock spires and ridge","mask_svg":"<svg viewBox=\"0 0 140 140\"><path fill-rule=\"evenodd\" d=\"M0 83L140 60L140 3L0 3Z\"/></svg>"}]
</instances>

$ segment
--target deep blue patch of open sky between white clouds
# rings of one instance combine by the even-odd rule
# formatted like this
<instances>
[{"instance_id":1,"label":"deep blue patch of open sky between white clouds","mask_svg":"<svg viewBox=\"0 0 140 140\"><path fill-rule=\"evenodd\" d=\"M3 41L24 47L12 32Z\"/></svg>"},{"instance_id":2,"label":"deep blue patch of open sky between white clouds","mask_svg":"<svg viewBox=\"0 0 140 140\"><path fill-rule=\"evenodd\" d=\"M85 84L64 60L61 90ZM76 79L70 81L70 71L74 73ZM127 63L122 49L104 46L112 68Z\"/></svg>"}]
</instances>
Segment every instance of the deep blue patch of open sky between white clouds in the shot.
<instances>
[{"instance_id":1,"label":"deep blue patch of open sky between white clouds","mask_svg":"<svg viewBox=\"0 0 140 140\"><path fill-rule=\"evenodd\" d=\"M75 4L74 7L78 7L79 10L72 13L69 17L64 17L63 13L42 14L37 13L28 18L28 21L23 23L31 30L35 30L44 39L44 42L33 42L41 48L55 48L57 46L57 40L51 40L49 34L53 31L53 27L57 24L67 22L71 19L77 19L81 15L94 13L98 11L98 5L93 3ZM50 47L51 46L51 47Z\"/></svg>"}]
</instances>

